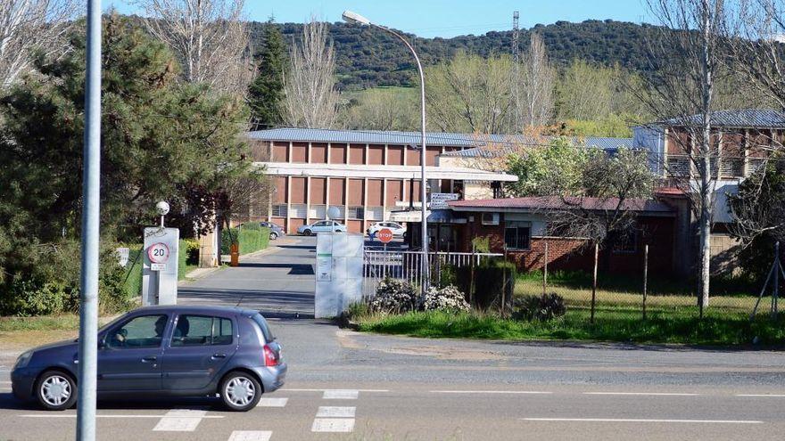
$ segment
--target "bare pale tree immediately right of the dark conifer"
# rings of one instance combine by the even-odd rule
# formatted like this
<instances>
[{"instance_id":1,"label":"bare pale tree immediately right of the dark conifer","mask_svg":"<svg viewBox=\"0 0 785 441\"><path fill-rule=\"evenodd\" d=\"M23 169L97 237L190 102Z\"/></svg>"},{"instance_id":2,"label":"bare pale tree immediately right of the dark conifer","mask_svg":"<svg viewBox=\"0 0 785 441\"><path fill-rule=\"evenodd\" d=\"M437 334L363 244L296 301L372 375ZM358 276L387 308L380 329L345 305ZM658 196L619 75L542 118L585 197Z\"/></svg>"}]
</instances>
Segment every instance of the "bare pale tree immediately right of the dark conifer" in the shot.
<instances>
[{"instance_id":1,"label":"bare pale tree immediately right of the dark conifer","mask_svg":"<svg viewBox=\"0 0 785 441\"><path fill-rule=\"evenodd\" d=\"M285 122L295 127L335 127L335 49L327 40L327 24L311 18L302 27L291 53L292 66L284 78Z\"/></svg>"}]
</instances>

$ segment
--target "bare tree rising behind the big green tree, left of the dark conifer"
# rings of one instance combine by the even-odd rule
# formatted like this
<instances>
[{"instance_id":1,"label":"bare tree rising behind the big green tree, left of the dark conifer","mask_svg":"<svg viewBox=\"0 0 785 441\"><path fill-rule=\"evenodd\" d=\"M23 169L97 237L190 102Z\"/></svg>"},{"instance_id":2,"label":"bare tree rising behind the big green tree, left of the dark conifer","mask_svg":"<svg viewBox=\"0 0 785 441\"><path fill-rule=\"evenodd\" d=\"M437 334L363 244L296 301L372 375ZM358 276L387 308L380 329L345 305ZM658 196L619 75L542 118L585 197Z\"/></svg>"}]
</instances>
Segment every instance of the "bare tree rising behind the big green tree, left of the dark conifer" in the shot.
<instances>
[{"instance_id":1,"label":"bare tree rising behind the big green tree, left of the dark conifer","mask_svg":"<svg viewBox=\"0 0 785 441\"><path fill-rule=\"evenodd\" d=\"M187 82L244 95L253 69L244 0L134 0L147 29L166 42Z\"/></svg>"}]
</instances>

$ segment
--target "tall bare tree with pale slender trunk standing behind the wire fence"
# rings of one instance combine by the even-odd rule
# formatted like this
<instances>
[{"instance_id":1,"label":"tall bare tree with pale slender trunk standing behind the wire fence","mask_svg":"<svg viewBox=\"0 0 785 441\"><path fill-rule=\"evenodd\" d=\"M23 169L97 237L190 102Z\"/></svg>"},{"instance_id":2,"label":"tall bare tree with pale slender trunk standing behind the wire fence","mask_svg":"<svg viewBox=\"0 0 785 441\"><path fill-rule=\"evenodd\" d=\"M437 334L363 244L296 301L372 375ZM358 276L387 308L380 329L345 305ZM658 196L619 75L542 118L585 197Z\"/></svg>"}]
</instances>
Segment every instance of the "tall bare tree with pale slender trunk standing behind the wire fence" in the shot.
<instances>
[{"instance_id":1,"label":"tall bare tree with pale slender trunk standing behind the wire fence","mask_svg":"<svg viewBox=\"0 0 785 441\"><path fill-rule=\"evenodd\" d=\"M700 314L708 306L711 226L715 212L718 149L714 130L715 80L723 63L724 42L731 35L723 0L648 0L660 21L652 29L649 60L654 72L641 94L657 124L649 128L665 136L672 151L652 158L663 162L690 198L698 217Z\"/></svg>"}]
</instances>

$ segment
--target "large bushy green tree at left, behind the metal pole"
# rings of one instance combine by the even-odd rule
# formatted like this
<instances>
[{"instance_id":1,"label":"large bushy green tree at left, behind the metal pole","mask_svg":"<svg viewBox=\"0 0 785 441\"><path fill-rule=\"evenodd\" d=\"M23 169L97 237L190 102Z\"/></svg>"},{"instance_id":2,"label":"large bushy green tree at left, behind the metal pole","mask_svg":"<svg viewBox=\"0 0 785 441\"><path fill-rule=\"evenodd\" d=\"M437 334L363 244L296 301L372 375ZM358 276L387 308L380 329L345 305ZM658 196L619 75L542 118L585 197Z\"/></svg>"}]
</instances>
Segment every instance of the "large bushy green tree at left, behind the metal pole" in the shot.
<instances>
[{"instance_id":1,"label":"large bushy green tree at left, behind the metal pole","mask_svg":"<svg viewBox=\"0 0 785 441\"><path fill-rule=\"evenodd\" d=\"M0 100L4 313L35 314L63 304L21 301L35 300L37 292L78 298L85 44L82 21L67 55L39 57L36 72ZM139 241L157 200L172 202L172 213L196 213L182 219L190 228L212 216L219 198L211 196L249 175L241 136L248 117L236 98L180 84L167 48L117 15L103 20L102 63L101 286L102 296L116 296L122 281L112 243L122 231Z\"/></svg>"}]
</instances>

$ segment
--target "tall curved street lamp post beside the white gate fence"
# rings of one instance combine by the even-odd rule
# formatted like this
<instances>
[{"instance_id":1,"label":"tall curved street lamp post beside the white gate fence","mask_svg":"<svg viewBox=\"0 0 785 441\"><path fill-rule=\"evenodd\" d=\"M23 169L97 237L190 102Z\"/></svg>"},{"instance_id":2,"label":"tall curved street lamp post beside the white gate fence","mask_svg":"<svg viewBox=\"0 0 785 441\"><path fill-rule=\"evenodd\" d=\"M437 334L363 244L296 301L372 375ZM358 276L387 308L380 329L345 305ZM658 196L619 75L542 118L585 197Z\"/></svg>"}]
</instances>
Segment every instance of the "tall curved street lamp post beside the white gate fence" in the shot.
<instances>
[{"instance_id":1,"label":"tall curved street lamp post beside the white gate fence","mask_svg":"<svg viewBox=\"0 0 785 441\"><path fill-rule=\"evenodd\" d=\"M351 11L344 11L343 12L343 20L349 23L357 23L366 26L373 26L376 29L382 29L385 32L389 32L395 37L398 37L406 47L409 48L409 51L414 56L414 60L417 61L417 73L420 75L420 122L422 123L422 139L420 140L420 144L422 147L422 151L420 151L420 174L421 174L421 182L420 182L420 202L422 205L422 223L420 228L422 229L422 262L421 262L421 274L422 274L422 290L425 294L426 290L428 289L428 285L430 283L429 279L429 265L428 265L428 212L427 212L427 194L426 194L426 77L423 75L423 65L420 63L420 57L417 56L417 51L414 50L414 47L409 44L409 40L405 37L401 36L398 32L394 30L377 25L375 23L371 23L370 20L359 15L357 12Z\"/></svg>"}]
</instances>

